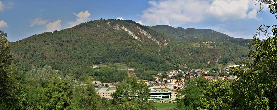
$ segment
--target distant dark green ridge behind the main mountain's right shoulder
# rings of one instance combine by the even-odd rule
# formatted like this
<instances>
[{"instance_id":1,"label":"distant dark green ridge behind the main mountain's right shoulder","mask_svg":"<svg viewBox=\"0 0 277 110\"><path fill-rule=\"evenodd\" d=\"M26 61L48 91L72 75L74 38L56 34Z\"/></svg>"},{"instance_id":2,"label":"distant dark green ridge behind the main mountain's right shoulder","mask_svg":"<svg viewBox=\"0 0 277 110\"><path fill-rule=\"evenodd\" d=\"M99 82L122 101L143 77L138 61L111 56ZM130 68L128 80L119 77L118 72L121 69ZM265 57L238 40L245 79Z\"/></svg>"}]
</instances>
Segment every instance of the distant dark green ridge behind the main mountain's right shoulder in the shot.
<instances>
[{"instance_id":1,"label":"distant dark green ridge behind the main mountain's right shoulder","mask_svg":"<svg viewBox=\"0 0 277 110\"><path fill-rule=\"evenodd\" d=\"M168 25L156 25L148 27L159 32L163 32L172 39L179 41L181 43L190 43L190 42L203 42L203 41L218 41L218 42L231 42L237 45L242 45L243 47L248 48L245 43L252 42L251 39L243 38L233 38L226 34L216 32L211 29L195 29L195 28L174 28Z\"/></svg>"}]
</instances>

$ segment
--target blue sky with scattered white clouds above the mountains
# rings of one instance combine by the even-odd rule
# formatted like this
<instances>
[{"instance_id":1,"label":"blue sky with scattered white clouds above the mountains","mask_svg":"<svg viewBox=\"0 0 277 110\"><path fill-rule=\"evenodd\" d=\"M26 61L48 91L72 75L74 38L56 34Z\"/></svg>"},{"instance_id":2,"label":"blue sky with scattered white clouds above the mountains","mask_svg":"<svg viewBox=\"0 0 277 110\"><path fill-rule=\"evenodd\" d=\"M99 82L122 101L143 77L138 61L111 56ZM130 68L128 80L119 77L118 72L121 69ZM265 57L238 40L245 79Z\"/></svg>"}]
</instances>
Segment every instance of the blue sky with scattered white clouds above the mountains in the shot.
<instances>
[{"instance_id":1,"label":"blue sky with scattered white clouds above the mountains","mask_svg":"<svg viewBox=\"0 0 277 110\"><path fill-rule=\"evenodd\" d=\"M274 15L252 0L178 1L0 1L0 29L11 42L98 19L129 19L142 25L210 28L252 39L259 25L276 25Z\"/></svg>"}]
</instances>

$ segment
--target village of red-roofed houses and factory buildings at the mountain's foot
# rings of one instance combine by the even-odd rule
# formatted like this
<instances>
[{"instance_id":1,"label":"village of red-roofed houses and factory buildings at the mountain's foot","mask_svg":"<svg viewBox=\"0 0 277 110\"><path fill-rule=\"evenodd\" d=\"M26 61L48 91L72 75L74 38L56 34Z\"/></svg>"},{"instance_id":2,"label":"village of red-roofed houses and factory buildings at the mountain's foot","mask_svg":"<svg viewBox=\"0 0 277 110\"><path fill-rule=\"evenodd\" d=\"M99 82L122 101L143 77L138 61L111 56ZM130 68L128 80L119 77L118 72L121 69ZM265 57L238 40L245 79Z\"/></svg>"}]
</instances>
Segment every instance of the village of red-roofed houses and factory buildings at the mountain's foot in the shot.
<instances>
[{"instance_id":1,"label":"village of red-roofed houses and factory buildings at the mountain's foot","mask_svg":"<svg viewBox=\"0 0 277 110\"><path fill-rule=\"evenodd\" d=\"M93 68L98 68L99 66L94 65ZM135 71L134 68L127 68L126 70L129 70L130 72ZM161 102L168 102L173 101L176 99L182 98L179 93L176 91L178 89L184 89L186 88L189 83L188 81L193 78L199 78L201 76L205 77L206 80L209 81L217 81L219 79L230 79L233 80L236 78L236 75L230 75L227 76L207 76L209 73L226 73L229 74L229 69L225 70L219 70L219 71L211 71L209 69L203 70L203 69L192 69L187 70L187 72L184 72L182 70L171 70L166 71L164 74L166 74L167 78L162 78L161 72L157 72L157 76L154 77L154 81L147 81L143 79L137 79L137 82L143 82L144 84L147 84L149 86L150 92L150 100L159 100ZM182 77L177 77L179 74L182 74ZM176 77L175 77L176 76ZM73 82L77 82L77 79L73 79ZM111 99L111 93L114 93L116 91L116 86L113 84L106 84L101 83L100 81L93 81L92 82L96 93L98 93L101 97L104 97L106 99ZM83 85L83 83L81 84ZM105 85L105 86L104 86Z\"/></svg>"}]
</instances>

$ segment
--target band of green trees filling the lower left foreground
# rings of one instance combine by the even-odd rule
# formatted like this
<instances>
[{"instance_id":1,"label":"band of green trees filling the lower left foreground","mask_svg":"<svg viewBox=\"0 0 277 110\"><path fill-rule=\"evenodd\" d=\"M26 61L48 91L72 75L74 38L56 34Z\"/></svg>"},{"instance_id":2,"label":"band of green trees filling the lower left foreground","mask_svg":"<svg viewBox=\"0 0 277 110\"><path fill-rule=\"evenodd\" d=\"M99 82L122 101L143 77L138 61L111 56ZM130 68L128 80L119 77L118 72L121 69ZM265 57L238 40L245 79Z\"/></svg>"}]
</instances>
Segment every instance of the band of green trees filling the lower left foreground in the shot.
<instances>
[{"instance_id":1,"label":"band of green trees filling the lower left foreground","mask_svg":"<svg viewBox=\"0 0 277 110\"><path fill-rule=\"evenodd\" d=\"M2 110L120 110L123 107L113 105L119 101L100 97L89 76L84 79L85 85L75 86L71 77L63 77L50 66L33 67L26 75L15 67L8 71L13 73L10 78L13 82L1 82L8 87L2 91L9 93L1 94Z\"/></svg>"}]
</instances>

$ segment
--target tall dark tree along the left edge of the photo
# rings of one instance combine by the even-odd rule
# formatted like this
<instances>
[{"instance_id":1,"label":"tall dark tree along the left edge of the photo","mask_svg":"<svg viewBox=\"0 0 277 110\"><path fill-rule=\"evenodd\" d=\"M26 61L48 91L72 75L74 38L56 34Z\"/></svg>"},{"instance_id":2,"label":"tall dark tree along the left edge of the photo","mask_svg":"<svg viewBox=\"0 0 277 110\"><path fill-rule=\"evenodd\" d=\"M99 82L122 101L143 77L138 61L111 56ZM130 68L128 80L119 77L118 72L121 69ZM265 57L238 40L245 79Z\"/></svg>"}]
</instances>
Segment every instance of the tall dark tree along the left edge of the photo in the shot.
<instances>
[{"instance_id":1,"label":"tall dark tree along the left edge of the photo","mask_svg":"<svg viewBox=\"0 0 277 110\"><path fill-rule=\"evenodd\" d=\"M10 55L10 41L7 40L7 33L0 30L0 106L2 109L15 109L17 99L15 93L18 85L12 80Z\"/></svg>"}]
</instances>

